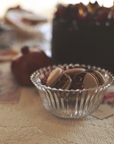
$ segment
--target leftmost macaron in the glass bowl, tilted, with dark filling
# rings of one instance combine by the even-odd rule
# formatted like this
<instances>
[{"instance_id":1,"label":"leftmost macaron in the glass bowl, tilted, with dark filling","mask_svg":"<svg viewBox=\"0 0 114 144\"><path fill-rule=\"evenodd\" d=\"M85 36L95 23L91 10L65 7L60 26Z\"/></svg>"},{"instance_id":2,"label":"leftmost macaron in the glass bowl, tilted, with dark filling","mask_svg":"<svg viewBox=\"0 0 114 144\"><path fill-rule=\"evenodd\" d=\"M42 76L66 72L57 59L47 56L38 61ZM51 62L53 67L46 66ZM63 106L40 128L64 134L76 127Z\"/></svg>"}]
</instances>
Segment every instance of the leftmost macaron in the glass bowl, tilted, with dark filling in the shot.
<instances>
[{"instance_id":1,"label":"leftmost macaron in the glass bowl, tilted, with dark filling","mask_svg":"<svg viewBox=\"0 0 114 144\"><path fill-rule=\"evenodd\" d=\"M61 68L56 68L48 76L46 86L52 88L69 89L71 86L72 79L69 75L64 74Z\"/></svg>"}]
</instances>

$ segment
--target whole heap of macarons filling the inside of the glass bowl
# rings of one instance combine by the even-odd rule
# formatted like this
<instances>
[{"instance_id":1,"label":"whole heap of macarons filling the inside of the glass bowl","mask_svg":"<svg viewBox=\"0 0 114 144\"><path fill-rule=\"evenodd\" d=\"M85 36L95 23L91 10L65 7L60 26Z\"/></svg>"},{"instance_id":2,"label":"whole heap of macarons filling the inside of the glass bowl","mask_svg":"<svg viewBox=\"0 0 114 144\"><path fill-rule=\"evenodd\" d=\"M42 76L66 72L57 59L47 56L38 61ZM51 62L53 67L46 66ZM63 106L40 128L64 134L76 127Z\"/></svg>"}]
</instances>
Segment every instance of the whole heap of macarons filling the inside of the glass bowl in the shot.
<instances>
[{"instance_id":1,"label":"whole heap of macarons filling the inside of the glass bowl","mask_svg":"<svg viewBox=\"0 0 114 144\"><path fill-rule=\"evenodd\" d=\"M73 68L52 70L46 80L46 86L57 89L88 89L104 84L104 76L97 70Z\"/></svg>"}]
</instances>

